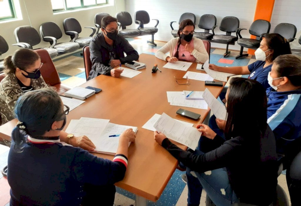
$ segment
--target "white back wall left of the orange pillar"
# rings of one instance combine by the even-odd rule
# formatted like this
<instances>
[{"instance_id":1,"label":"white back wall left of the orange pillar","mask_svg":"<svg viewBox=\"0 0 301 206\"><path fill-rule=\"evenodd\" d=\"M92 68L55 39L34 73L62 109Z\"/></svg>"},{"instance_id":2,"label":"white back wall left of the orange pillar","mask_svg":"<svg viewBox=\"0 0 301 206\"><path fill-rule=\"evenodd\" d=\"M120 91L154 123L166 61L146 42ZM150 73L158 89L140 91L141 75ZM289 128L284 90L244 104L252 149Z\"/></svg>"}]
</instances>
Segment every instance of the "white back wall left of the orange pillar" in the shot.
<instances>
[{"instance_id":1,"label":"white back wall left of the orange pillar","mask_svg":"<svg viewBox=\"0 0 301 206\"><path fill-rule=\"evenodd\" d=\"M194 13L199 22L203 14L213 14L217 18L219 26L225 16L235 16L240 20L240 28L249 29L253 22L256 0L126 0L126 11L132 15L134 20L135 11L145 10L149 13L151 19L158 19L158 33L155 34L155 40L169 41L172 37L169 23L179 20L181 14L185 12ZM151 21L149 26L154 26L155 21ZM133 24L132 28L137 25ZM178 29L178 23L173 23L173 27ZM195 31L203 31L196 26ZM225 34L219 27L215 29L216 34ZM241 32L243 37L250 38L248 30ZM232 33L232 35L236 35ZM150 38L150 36L149 36ZM212 47L225 48L226 45L212 43ZM230 45L230 49L239 50L240 46Z\"/></svg>"}]
</instances>

